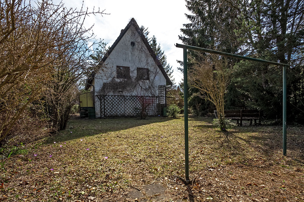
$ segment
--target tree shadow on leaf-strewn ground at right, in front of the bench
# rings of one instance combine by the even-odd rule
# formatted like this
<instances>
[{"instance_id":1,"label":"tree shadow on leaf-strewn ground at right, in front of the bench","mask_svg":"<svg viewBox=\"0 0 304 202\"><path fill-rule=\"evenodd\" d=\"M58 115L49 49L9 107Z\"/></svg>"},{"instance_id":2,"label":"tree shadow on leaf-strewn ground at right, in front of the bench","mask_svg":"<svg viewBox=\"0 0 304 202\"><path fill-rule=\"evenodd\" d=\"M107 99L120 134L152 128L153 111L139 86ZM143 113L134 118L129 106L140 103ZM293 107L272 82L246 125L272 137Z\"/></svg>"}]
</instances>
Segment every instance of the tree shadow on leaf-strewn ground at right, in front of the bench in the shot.
<instances>
[{"instance_id":1,"label":"tree shadow on leaf-strewn ground at right, in front of the bench","mask_svg":"<svg viewBox=\"0 0 304 202\"><path fill-rule=\"evenodd\" d=\"M212 143L216 150L223 150L236 157L250 150L256 151L265 157L282 153L283 138L281 126L236 126L232 130L216 130L210 124L193 126L206 133L199 144ZM303 142L304 127L290 127L287 129L287 156L304 160Z\"/></svg>"}]
</instances>

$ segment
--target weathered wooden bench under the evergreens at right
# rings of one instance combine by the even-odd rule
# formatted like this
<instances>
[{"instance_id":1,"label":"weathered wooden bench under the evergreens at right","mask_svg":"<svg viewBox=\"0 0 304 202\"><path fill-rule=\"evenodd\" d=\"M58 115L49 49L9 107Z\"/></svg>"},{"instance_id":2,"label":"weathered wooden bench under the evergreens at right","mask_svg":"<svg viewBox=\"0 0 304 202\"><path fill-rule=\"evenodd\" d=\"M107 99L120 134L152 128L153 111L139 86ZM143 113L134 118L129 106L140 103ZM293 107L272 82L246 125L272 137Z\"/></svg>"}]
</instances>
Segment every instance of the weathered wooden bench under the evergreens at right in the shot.
<instances>
[{"instance_id":1,"label":"weathered wooden bench under the evergreens at right","mask_svg":"<svg viewBox=\"0 0 304 202\"><path fill-rule=\"evenodd\" d=\"M237 125L242 126L243 120L250 121L250 125L252 125L252 120L254 120L254 125L261 124L261 110L257 109L236 109L236 110L224 110L225 118L229 118L232 120L237 120ZM217 119L217 111L214 110L215 118ZM240 120L240 123L239 123Z\"/></svg>"}]
</instances>

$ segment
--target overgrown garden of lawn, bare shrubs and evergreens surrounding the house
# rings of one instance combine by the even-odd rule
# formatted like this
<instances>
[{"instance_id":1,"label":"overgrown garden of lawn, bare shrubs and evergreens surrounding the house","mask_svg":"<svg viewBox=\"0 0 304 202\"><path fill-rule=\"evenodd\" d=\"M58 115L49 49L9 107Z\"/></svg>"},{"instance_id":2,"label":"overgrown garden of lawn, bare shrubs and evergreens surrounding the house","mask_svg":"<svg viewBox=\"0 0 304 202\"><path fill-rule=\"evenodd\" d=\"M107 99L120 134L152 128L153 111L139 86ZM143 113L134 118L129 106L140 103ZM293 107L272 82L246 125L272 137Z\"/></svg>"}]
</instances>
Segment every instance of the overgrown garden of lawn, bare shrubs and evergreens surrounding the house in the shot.
<instances>
[{"instance_id":1,"label":"overgrown garden of lawn, bare shrubs and evergreens surrounding the house","mask_svg":"<svg viewBox=\"0 0 304 202\"><path fill-rule=\"evenodd\" d=\"M178 100L167 106L168 117L146 117L142 107L136 109L141 119L69 121L85 79L102 68L107 45L84 22L104 11L0 0L0 200L304 201L304 2L185 4L191 12L179 35L185 45L291 65L288 156L278 125L281 67L188 50L194 181L185 185L179 178L185 174L182 83L164 86ZM172 79L156 37L141 30ZM221 130L202 117L214 109ZM262 125L226 130L224 109L259 109ZM159 186L157 194L148 194L147 185Z\"/></svg>"}]
</instances>

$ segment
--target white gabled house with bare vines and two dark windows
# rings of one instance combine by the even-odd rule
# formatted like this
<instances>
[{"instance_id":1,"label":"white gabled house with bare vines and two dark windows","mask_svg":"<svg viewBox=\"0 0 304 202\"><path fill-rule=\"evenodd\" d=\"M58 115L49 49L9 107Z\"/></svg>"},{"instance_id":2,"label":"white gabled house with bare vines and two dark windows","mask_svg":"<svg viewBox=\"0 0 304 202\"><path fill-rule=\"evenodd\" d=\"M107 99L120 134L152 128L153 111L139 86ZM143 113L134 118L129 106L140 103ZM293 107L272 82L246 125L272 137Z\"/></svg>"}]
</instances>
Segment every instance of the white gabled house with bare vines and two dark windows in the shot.
<instances>
[{"instance_id":1,"label":"white gabled house with bare vines and two dark windows","mask_svg":"<svg viewBox=\"0 0 304 202\"><path fill-rule=\"evenodd\" d=\"M85 86L94 95L97 118L140 112L162 115L166 86L172 82L134 18L121 30L99 66Z\"/></svg>"}]
</instances>

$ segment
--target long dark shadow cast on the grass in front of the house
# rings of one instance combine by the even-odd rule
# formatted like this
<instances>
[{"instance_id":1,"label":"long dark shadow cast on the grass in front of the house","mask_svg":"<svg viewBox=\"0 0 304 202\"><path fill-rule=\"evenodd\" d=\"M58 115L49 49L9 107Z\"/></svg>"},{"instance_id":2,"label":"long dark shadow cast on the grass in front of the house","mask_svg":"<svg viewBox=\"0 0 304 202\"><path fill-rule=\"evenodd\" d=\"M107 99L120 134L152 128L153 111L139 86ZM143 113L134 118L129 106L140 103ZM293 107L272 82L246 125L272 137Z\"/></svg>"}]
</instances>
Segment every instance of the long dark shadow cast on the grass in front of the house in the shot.
<instances>
[{"instance_id":1,"label":"long dark shadow cast on the grass in front of the house","mask_svg":"<svg viewBox=\"0 0 304 202\"><path fill-rule=\"evenodd\" d=\"M45 144L74 140L81 137L94 136L133 127L144 126L151 123L166 122L171 119L166 117L117 118L117 119L71 119L66 130L62 130L54 136L44 139Z\"/></svg>"}]
</instances>

